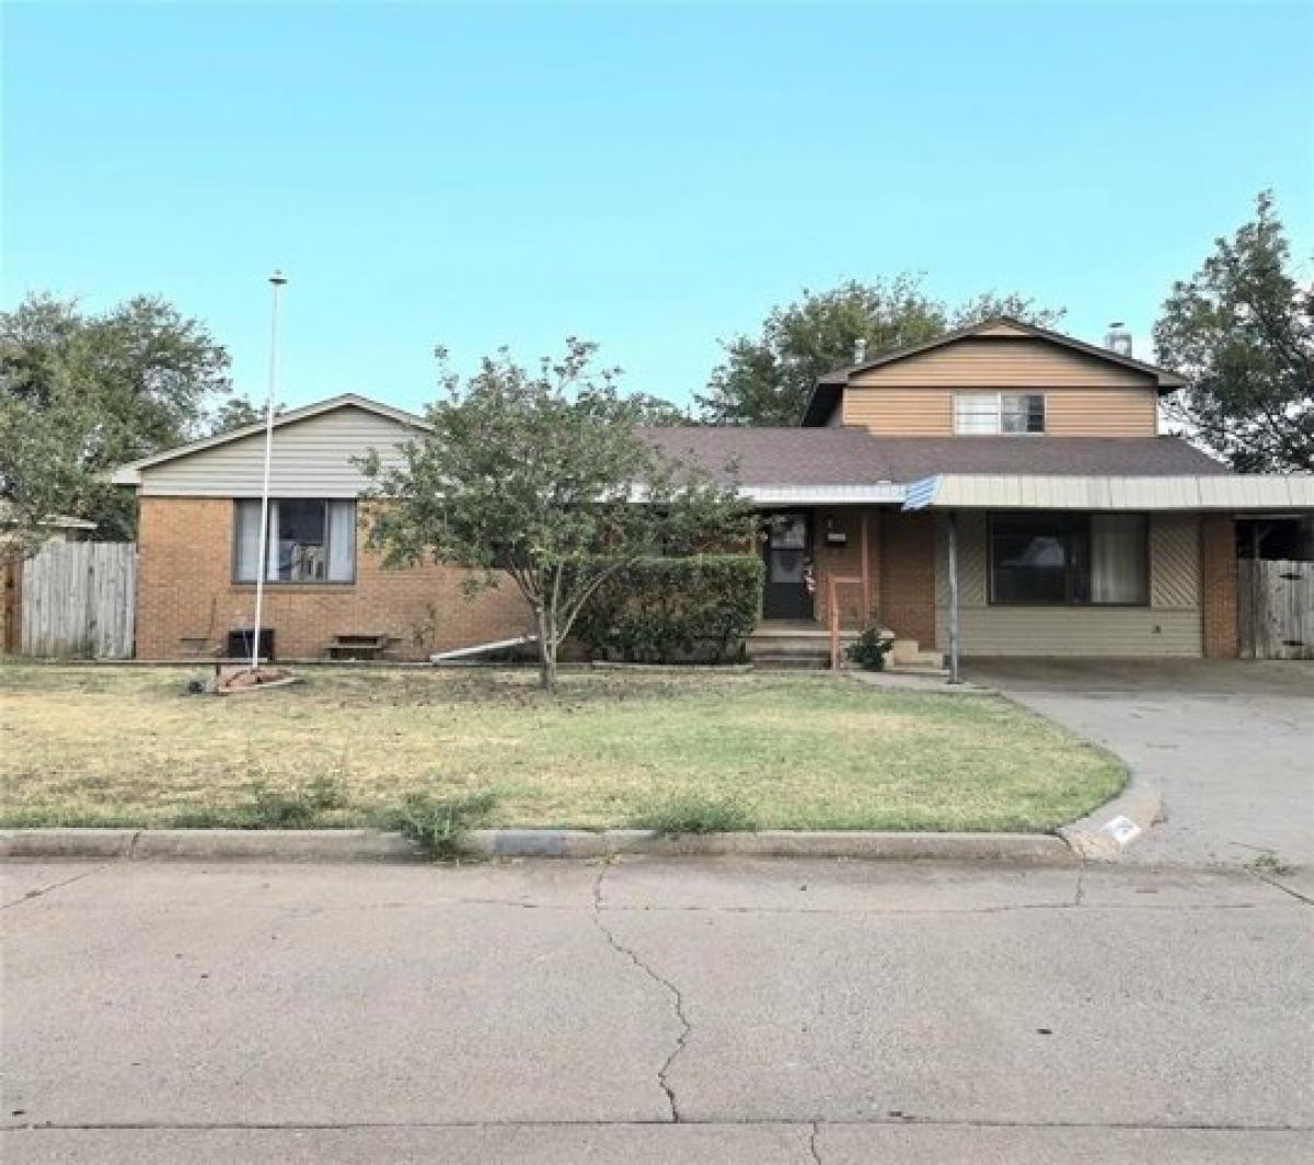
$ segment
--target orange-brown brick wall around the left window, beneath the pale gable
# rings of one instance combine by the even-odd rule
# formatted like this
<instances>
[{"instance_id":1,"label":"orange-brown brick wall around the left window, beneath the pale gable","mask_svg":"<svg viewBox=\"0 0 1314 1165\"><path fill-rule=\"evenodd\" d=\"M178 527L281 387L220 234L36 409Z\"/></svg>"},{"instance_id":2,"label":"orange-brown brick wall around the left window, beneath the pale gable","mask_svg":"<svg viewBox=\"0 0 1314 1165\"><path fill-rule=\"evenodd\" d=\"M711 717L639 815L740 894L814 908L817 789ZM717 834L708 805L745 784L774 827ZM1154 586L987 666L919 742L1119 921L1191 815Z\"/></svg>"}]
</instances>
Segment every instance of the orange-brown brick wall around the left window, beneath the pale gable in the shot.
<instances>
[{"instance_id":1,"label":"orange-brown brick wall around the left window, beneath the pale gable","mask_svg":"<svg viewBox=\"0 0 1314 1165\"><path fill-rule=\"evenodd\" d=\"M142 498L138 525L137 657L193 654L185 638L222 648L229 630L250 628L255 587L233 582L234 506L222 498ZM466 599L463 571L443 566L386 570L359 535L356 582L264 590L263 624L283 659L323 658L338 634L390 634L397 658L469 646L530 630L531 615L510 582ZM428 623L424 642L415 633Z\"/></svg>"}]
</instances>

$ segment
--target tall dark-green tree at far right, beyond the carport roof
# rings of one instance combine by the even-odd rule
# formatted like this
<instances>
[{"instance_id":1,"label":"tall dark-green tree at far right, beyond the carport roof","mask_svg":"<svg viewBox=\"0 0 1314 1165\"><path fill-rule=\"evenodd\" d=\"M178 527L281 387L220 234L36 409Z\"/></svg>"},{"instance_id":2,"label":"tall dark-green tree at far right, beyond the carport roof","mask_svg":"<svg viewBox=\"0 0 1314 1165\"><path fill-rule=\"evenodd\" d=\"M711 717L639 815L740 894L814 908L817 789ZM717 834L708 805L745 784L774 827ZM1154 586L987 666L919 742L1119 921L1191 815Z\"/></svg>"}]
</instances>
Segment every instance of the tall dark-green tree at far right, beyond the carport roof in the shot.
<instances>
[{"instance_id":1,"label":"tall dark-green tree at far right, beyond the carport roof","mask_svg":"<svg viewBox=\"0 0 1314 1165\"><path fill-rule=\"evenodd\" d=\"M1314 472L1314 286L1296 280L1271 190L1173 284L1154 341L1188 381L1167 403L1187 436L1242 472Z\"/></svg>"}]
</instances>

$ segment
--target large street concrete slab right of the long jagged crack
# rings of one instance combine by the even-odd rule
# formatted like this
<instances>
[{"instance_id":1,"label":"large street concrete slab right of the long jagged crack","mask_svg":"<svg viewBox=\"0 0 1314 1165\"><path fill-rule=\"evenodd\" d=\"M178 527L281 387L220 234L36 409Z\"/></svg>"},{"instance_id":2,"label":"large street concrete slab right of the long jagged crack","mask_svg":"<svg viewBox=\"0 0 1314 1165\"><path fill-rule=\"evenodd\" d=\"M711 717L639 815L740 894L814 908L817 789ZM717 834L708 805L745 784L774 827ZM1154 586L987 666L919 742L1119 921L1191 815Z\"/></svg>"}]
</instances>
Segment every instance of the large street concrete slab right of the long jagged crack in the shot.
<instances>
[{"instance_id":1,"label":"large street concrete slab right of the long jagged crack","mask_svg":"<svg viewBox=\"0 0 1314 1165\"><path fill-rule=\"evenodd\" d=\"M686 1119L1314 1122L1303 909L607 917Z\"/></svg>"}]
</instances>

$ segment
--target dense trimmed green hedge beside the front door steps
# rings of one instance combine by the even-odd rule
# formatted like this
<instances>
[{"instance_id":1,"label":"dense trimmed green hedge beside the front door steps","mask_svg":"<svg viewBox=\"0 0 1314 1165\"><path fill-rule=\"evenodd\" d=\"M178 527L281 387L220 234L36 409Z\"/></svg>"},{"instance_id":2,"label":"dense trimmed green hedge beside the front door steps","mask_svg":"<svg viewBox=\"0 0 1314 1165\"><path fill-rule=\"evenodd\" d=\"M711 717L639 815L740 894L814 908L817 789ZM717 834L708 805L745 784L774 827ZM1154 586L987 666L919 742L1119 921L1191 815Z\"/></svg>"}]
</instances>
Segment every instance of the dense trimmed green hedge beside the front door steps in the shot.
<instances>
[{"instance_id":1,"label":"dense trimmed green hedge beside the front door steps","mask_svg":"<svg viewBox=\"0 0 1314 1165\"><path fill-rule=\"evenodd\" d=\"M600 659L724 662L738 655L762 605L756 554L640 558L611 574L576 623Z\"/></svg>"}]
</instances>

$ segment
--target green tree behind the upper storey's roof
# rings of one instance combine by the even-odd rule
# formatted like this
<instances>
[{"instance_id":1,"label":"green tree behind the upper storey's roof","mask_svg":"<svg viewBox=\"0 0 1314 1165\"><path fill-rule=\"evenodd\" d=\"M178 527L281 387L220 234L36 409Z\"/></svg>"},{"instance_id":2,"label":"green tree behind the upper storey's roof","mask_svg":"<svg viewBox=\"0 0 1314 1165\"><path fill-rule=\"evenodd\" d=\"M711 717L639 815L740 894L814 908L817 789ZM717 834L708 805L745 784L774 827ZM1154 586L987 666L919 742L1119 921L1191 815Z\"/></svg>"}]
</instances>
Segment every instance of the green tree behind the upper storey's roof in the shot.
<instances>
[{"instance_id":1,"label":"green tree behind the upper storey's roof","mask_svg":"<svg viewBox=\"0 0 1314 1165\"><path fill-rule=\"evenodd\" d=\"M804 289L796 303L771 310L759 336L721 341L725 360L696 401L714 424L798 424L817 377L851 365L859 341L867 356L876 356L996 315L1049 326L1063 313L995 293L949 307L912 275L869 284L850 280L828 292Z\"/></svg>"}]
</instances>

